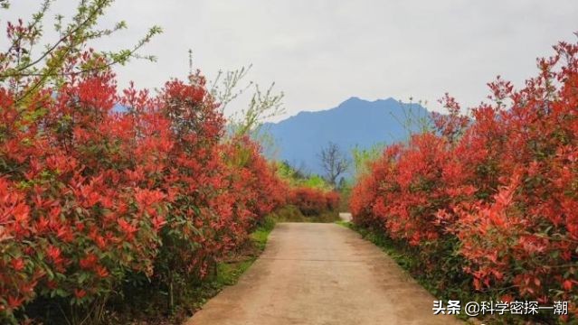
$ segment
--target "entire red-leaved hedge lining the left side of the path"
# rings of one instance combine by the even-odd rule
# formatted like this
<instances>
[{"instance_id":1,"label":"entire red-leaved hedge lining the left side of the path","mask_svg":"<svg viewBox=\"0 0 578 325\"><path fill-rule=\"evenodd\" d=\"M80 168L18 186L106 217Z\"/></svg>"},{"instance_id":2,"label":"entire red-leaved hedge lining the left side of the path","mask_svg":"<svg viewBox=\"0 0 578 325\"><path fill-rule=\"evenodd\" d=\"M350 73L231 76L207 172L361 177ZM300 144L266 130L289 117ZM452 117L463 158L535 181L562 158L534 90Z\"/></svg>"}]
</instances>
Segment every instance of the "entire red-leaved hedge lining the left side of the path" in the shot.
<instances>
[{"instance_id":1,"label":"entire red-leaved hedge lining the left side of the path","mask_svg":"<svg viewBox=\"0 0 578 325\"><path fill-rule=\"evenodd\" d=\"M24 102L0 87L0 320L36 297L98 318L133 274L172 297L284 202L258 145L224 136L198 73L157 97L118 96L111 70L64 76Z\"/></svg>"}]
</instances>

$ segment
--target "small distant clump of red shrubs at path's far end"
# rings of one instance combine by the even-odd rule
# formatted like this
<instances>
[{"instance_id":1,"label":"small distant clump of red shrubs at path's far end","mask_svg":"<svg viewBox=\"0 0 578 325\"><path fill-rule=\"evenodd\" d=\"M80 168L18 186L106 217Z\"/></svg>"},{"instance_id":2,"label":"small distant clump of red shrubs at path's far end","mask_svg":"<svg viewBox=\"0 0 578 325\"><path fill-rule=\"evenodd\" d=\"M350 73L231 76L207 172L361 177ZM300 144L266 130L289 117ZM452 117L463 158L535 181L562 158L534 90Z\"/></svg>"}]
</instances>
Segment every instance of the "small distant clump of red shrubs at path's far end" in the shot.
<instances>
[{"instance_id":1,"label":"small distant clump of red shrubs at path's far end","mask_svg":"<svg viewBox=\"0 0 578 325\"><path fill-rule=\"evenodd\" d=\"M308 187L296 187L289 191L289 204L292 204L306 216L326 211L335 211L339 205L339 194Z\"/></svg>"}]
</instances>

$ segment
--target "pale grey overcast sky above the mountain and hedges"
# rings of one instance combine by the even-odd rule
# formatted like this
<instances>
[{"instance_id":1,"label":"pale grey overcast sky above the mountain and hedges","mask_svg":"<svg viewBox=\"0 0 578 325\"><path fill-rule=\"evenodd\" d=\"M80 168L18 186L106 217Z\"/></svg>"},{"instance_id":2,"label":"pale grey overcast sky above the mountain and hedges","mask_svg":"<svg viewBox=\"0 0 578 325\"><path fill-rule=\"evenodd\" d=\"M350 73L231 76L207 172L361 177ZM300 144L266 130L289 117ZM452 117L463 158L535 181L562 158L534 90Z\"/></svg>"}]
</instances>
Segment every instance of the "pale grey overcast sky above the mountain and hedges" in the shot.
<instances>
[{"instance_id":1,"label":"pale grey overcast sky above the mountain and hedges","mask_svg":"<svg viewBox=\"0 0 578 325\"><path fill-rule=\"evenodd\" d=\"M12 3L0 12L3 24L25 18L39 1ZM76 3L59 0L52 14L71 13ZM158 61L118 69L120 85L156 88L185 78L193 49L194 66L209 79L252 63L248 80L275 81L289 116L352 96L413 97L438 109L436 100L450 92L474 106L498 74L521 85L535 75L536 57L576 39L578 1L118 0L102 25L118 20L128 30L107 47L129 46L153 24L165 31L145 49Z\"/></svg>"}]
</instances>

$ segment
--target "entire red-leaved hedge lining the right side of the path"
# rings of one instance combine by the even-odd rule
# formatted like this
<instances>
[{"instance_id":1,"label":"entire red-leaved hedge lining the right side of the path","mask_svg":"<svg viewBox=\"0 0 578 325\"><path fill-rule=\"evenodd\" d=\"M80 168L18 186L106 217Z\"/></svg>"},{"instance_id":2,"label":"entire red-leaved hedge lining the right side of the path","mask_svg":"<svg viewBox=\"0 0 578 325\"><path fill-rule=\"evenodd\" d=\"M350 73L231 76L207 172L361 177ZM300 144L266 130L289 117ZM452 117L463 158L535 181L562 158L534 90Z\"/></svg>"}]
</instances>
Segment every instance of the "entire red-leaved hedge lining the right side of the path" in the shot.
<instances>
[{"instance_id":1,"label":"entire red-leaved hedge lining the right side of the path","mask_svg":"<svg viewBox=\"0 0 578 325\"><path fill-rule=\"evenodd\" d=\"M492 103L471 121L446 96L450 114L387 148L351 209L360 226L413 246L431 272L458 270L495 300L570 301L575 318L578 44L554 50L524 88L489 84Z\"/></svg>"}]
</instances>

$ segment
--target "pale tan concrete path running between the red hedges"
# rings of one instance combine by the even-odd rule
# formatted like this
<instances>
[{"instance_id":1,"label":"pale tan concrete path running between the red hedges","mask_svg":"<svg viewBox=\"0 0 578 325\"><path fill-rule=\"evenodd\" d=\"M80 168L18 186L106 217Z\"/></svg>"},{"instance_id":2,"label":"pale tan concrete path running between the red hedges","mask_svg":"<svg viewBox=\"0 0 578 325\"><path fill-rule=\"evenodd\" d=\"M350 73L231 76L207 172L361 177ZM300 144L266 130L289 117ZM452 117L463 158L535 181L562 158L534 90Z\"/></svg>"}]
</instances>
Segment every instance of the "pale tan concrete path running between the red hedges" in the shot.
<instances>
[{"instance_id":1,"label":"pale tan concrete path running between the red hedges","mask_svg":"<svg viewBox=\"0 0 578 325\"><path fill-rule=\"evenodd\" d=\"M186 325L459 324L378 247L336 224L280 223L239 283Z\"/></svg>"}]
</instances>

